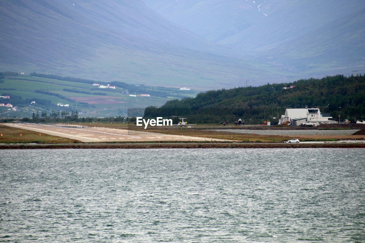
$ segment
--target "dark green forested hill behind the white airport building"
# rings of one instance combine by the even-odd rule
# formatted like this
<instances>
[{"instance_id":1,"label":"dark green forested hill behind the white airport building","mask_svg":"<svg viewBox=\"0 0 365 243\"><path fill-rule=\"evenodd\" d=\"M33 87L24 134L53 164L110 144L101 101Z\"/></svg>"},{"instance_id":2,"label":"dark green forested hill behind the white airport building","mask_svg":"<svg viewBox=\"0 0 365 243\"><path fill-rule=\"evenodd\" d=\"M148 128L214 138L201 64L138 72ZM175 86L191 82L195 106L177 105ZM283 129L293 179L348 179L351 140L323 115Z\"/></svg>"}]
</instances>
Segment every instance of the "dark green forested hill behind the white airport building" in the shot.
<instances>
[{"instance_id":1,"label":"dark green forested hill behind the white airport building","mask_svg":"<svg viewBox=\"0 0 365 243\"><path fill-rule=\"evenodd\" d=\"M295 85L293 88L283 89ZM337 117L364 116L365 77L328 76L286 84L211 90L195 98L168 101L160 108L147 107L145 116L193 116L205 122L220 119L264 119L284 114L286 108L318 107L321 112ZM341 107L341 108L340 108ZM273 114L273 115L272 115ZM352 116L351 116L352 114ZM203 118L204 117L204 118Z\"/></svg>"}]
</instances>

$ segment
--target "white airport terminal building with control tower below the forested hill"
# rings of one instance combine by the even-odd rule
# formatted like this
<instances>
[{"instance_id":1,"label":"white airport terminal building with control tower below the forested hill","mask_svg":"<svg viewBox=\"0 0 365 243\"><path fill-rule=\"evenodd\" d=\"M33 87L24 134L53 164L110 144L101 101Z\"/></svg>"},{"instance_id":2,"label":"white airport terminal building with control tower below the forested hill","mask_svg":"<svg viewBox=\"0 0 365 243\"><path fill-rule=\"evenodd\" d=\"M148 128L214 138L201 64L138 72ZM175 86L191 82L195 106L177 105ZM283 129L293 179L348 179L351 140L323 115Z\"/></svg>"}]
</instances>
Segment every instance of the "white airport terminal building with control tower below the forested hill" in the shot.
<instances>
[{"instance_id":1,"label":"white airport terminal building with control tower below the forested hill","mask_svg":"<svg viewBox=\"0 0 365 243\"><path fill-rule=\"evenodd\" d=\"M286 109L285 115L281 115L279 124L291 123L292 126L318 126L323 123L337 123L330 120L331 116L323 117L319 108Z\"/></svg>"}]
</instances>

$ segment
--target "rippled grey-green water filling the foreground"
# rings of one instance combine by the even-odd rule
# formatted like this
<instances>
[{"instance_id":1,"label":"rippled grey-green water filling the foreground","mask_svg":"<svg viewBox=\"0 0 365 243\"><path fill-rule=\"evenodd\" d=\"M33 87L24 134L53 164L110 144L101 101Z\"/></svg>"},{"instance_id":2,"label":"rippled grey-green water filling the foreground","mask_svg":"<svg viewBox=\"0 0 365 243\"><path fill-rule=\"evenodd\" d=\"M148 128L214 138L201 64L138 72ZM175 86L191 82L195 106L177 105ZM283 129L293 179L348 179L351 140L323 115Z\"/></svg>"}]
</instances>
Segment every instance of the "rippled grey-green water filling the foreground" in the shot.
<instances>
[{"instance_id":1,"label":"rippled grey-green water filling the foreground","mask_svg":"<svg viewBox=\"0 0 365 243\"><path fill-rule=\"evenodd\" d=\"M0 241L365 241L364 149L1 150Z\"/></svg>"}]
</instances>

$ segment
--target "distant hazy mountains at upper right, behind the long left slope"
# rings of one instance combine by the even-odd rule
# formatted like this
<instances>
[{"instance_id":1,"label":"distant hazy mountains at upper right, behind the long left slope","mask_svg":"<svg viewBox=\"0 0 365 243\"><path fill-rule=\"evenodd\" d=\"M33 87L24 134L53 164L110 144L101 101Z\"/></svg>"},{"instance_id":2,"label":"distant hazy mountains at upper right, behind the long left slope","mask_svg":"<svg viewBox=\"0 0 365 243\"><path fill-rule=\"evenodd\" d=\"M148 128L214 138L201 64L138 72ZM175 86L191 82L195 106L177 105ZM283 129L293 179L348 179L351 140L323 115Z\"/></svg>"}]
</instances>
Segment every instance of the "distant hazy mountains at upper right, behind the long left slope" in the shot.
<instances>
[{"instance_id":1,"label":"distant hazy mountains at upper right, behind the long left slope","mask_svg":"<svg viewBox=\"0 0 365 243\"><path fill-rule=\"evenodd\" d=\"M208 40L302 77L364 72L362 0L144 1Z\"/></svg>"}]
</instances>

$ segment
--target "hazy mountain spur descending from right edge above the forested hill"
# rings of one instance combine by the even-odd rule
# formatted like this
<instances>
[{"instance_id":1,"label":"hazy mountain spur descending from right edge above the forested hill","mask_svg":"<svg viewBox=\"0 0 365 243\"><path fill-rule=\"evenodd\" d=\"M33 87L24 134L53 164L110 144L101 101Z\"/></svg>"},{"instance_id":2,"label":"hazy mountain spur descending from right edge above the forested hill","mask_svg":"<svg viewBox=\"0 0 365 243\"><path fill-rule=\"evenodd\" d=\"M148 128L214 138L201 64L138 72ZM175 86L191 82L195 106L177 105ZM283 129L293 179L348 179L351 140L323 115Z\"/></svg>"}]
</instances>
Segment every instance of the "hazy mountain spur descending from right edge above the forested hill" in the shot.
<instances>
[{"instance_id":1,"label":"hazy mountain spur descending from right edge above the forested hill","mask_svg":"<svg viewBox=\"0 0 365 243\"><path fill-rule=\"evenodd\" d=\"M356 15L357 18L353 18ZM358 22L365 23L364 9L331 23L327 26L313 28L312 31L297 36L290 42L276 48L263 51L257 57L261 60L276 59L277 62L302 66L303 72L326 72L330 75L344 70L364 70L365 63L365 28ZM307 69L307 70L306 70Z\"/></svg>"}]
</instances>

